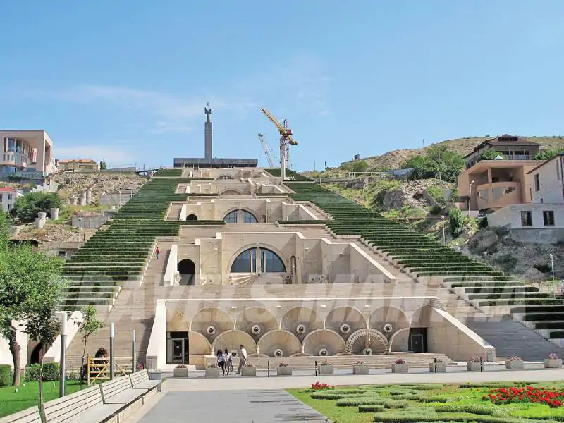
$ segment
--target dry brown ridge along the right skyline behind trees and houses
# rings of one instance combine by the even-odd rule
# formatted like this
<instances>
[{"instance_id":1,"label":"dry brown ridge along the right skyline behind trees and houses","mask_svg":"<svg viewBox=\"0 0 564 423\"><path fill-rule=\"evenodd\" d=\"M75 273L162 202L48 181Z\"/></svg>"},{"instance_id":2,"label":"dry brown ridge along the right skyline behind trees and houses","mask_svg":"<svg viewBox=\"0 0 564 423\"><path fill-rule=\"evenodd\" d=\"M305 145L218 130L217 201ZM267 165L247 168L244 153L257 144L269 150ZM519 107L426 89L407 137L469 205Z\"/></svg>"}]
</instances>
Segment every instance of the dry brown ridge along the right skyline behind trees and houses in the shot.
<instances>
[{"instance_id":1,"label":"dry brown ridge along the right skyline behind trees and houses","mask_svg":"<svg viewBox=\"0 0 564 423\"><path fill-rule=\"evenodd\" d=\"M492 135L493 136L493 135ZM466 138L455 138L454 140L446 140L440 142L441 145L448 145L448 148L462 154L463 156L470 153L474 147L479 145L480 142L491 138L491 137L466 137ZM544 149L564 149L564 136L549 136L549 137L522 137L525 140L530 140L532 142L537 142L538 144L542 145ZM396 169L400 167L400 164L410 159L417 154L422 154L425 150L429 148L422 147L419 149L397 149L392 150L391 152L387 152L381 154L380 156L372 156L372 157L363 157L362 159L367 161L369 171L377 171L377 170L387 170L387 169ZM343 176L342 173L339 171L347 172L350 171L350 165L352 161L348 161L340 168L332 169L329 172L326 172L326 176ZM312 172L305 172L306 176L311 176Z\"/></svg>"}]
</instances>

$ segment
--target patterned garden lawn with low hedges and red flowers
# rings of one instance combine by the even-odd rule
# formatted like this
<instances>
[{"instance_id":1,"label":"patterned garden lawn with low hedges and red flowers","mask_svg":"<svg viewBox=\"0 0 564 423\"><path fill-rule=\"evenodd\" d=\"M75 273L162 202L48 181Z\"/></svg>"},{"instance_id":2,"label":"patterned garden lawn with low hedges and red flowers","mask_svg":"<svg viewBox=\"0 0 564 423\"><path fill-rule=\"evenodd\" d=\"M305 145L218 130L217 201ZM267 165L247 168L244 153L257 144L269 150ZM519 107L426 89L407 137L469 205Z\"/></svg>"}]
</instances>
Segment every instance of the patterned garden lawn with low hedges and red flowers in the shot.
<instances>
[{"instance_id":1,"label":"patterned garden lawn with low hedges and red flowers","mask_svg":"<svg viewBox=\"0 0 564 423\"><path fill-rule=\"evenodd\" d=\"M507 390L492 391L501 388ZM512 391L511 388L515 390ZM558 399L564 397L563 382L539 384L492 382L444 386L440 384L362 385L338 386L324 391L288 389L288 392L302 403L338 423L556 423L564 421L564 406L560 405ZM534 397L534 393L540 394ZM502 404L494 404L490 394L503 396ZM527 398L537 398L535 400L552 398L553 407L546 403L527 402Z\"/></svg>"}]
</instances>

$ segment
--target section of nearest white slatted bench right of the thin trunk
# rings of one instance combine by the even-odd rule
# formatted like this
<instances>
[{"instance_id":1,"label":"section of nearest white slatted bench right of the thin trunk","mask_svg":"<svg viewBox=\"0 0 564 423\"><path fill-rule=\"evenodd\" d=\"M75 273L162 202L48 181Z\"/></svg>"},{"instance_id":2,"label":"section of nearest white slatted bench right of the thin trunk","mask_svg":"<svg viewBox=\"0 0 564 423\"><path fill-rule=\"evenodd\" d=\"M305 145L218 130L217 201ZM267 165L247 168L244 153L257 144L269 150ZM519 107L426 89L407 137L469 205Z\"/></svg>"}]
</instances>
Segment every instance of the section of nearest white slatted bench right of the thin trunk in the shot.
<instances>
[{"instance_id":1,"label":"section of nearest white slatted bench right of the thin trunk","mask_svg":"<svg viewBox=\"0 0 564 423\"><path fill-rule=\"evenodd\" d=\"M123 404L104 404L100 386L92 386L63 398L43 404L47 423L99 423L111 417L123 407Z\"/></svg>"}]
</instances>

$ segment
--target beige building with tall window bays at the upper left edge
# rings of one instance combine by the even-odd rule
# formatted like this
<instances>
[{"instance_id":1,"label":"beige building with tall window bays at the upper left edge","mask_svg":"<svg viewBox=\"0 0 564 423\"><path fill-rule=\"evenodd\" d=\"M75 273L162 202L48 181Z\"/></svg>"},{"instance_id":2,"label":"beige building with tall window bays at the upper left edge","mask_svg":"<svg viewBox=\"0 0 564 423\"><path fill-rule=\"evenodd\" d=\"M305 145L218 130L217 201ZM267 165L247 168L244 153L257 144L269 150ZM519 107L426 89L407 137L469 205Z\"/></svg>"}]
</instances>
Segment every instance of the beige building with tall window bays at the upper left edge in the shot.
<instances>
[{"instance_id":1,"label":"beige building with tall window bays at the upper left edge","mask_svg":"<svg viewBox=\"0 0 564 423\"><path fill-rule=\"evenodd\" d=\"M42 178L57 171L45 130L0 130L0 176Z\"/></svg>"}]
</instances>

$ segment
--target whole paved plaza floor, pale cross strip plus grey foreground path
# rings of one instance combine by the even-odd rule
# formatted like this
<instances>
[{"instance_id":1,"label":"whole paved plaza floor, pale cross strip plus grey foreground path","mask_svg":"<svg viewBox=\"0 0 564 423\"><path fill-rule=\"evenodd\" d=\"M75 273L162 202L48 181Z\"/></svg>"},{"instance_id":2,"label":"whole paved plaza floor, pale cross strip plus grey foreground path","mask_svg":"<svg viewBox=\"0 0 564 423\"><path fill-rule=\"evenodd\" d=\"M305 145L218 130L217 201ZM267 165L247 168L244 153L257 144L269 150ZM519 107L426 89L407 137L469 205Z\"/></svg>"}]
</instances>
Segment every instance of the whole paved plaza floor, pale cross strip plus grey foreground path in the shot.
<instances>
[{"instance_id":1,"label":"whole paved plaza floor, pale cross strip plus grey foreground path","mask_svg":"<svg viewBox=\"0 0 564 423\"><path fill-rule=\"evenodd\" d=\"M412 372L334 376L228 377L220 379L168 379L154 405L127 423L270 423L328 422L326 417L295 400L287 388L307 388L316 381L334 386L360 384L407 384L488 381L558 381L564 369L507 371L496 367L486 372Z\"/></svg>"}]
</instances>

